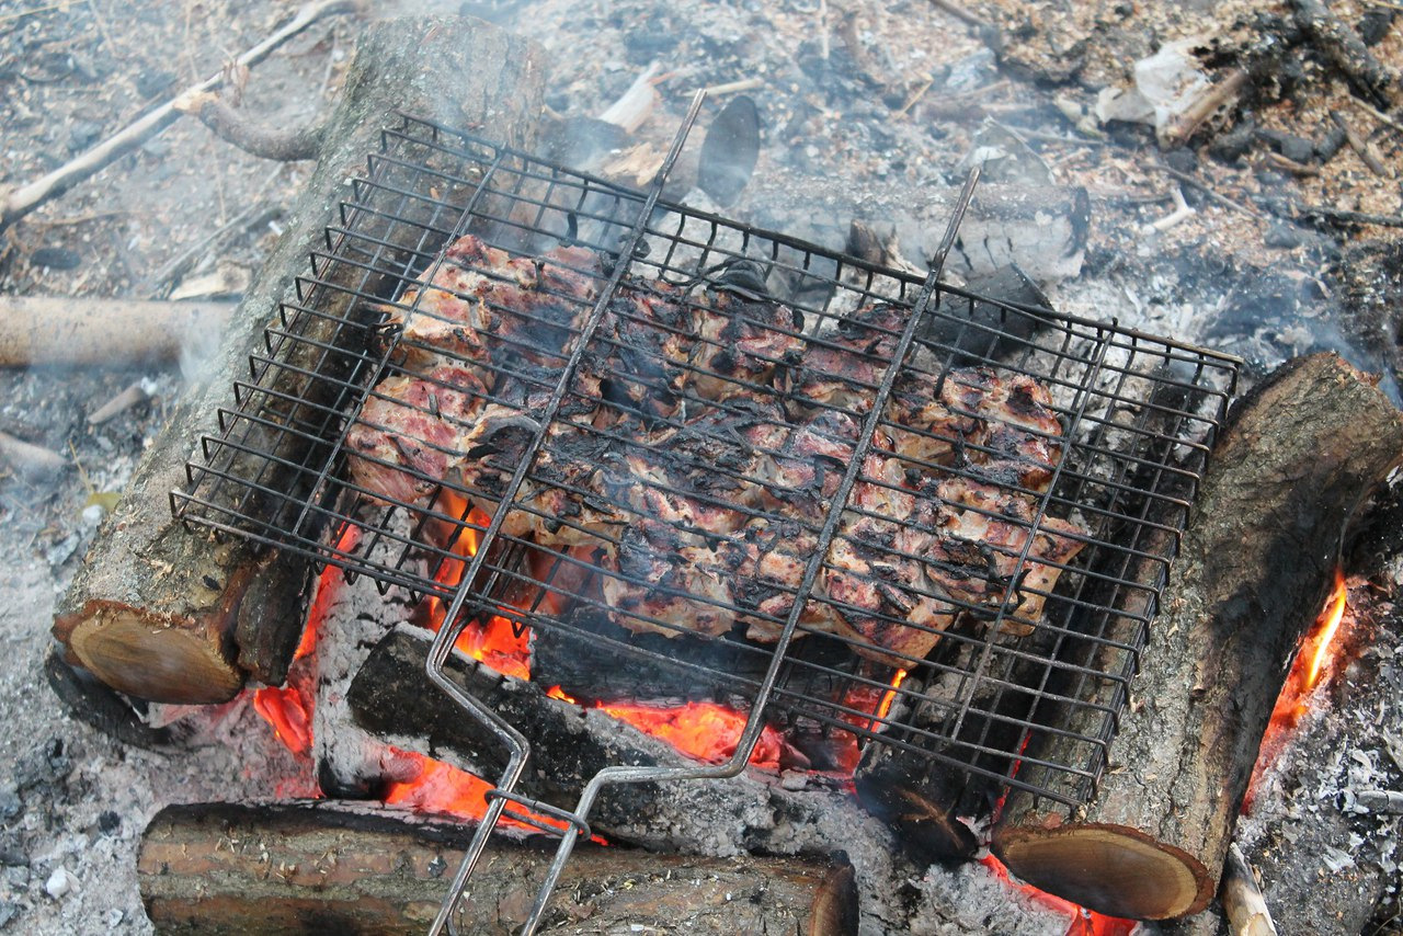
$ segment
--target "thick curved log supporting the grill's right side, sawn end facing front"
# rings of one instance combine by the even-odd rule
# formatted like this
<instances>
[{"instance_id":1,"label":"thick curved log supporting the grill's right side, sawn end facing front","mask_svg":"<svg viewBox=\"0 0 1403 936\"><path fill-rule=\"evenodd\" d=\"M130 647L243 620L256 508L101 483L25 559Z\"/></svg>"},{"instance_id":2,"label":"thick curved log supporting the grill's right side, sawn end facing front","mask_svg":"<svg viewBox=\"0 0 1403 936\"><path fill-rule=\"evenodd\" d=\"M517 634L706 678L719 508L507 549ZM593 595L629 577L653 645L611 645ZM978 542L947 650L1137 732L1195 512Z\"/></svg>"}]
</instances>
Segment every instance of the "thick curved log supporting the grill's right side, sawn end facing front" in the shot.
<instances>
[{"instance_id":1,"label":"thick curved log supporting the grill's right side, sawn end facing front","mask_svg":"<svg viewBox=\"0 0 1403 936\"><path fill-rule=\"evenodd\" d=\"M1114 916L1208 904L1345 523L1400 459L1403 415L1336 355L1288 363L1235 408L1100 789L1082 810L1010 793L993 849L1014 874ZM1066 744L1045 738L1040 754L1068 763Z\"/></svg>"}]
</instances>

